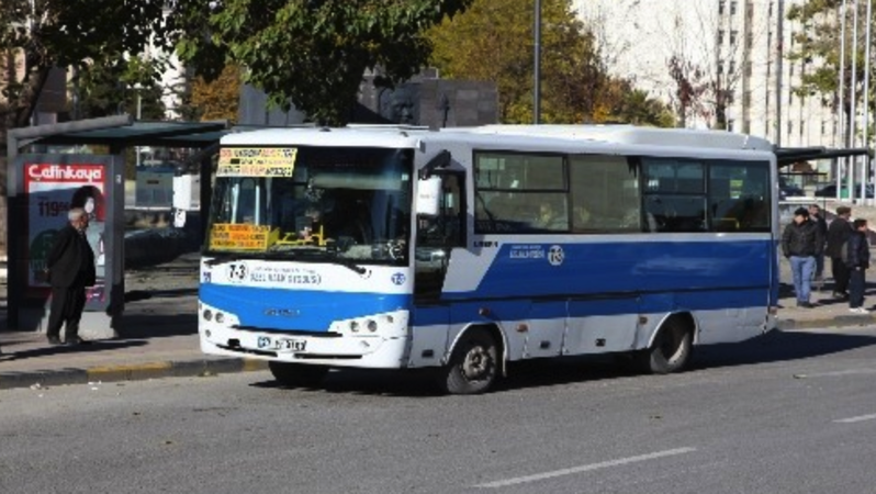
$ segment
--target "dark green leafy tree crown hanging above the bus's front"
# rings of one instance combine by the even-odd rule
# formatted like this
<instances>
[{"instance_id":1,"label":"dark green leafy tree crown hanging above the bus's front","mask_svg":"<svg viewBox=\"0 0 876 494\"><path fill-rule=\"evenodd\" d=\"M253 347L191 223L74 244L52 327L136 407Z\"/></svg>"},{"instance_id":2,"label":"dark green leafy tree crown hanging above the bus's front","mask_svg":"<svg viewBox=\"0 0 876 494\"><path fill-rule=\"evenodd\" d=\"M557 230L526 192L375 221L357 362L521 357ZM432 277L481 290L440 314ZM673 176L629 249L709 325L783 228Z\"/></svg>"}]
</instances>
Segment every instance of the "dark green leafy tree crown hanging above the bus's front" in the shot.
<instances>
[{"instance_id":1,"label":"dark green leafy tree crown hanging above the bus's front","mask_svg":"<svg viewBox=\"0 0 876 494\"><path fill-rule=\"evenodd\" d=\"M401 82L428 60L423 35L471 0L189 0L176 2L168 32L184 64L206 81L234 64L243 82L311 119L349 120L366 69Z\"/></svg>"}]
</instances>

